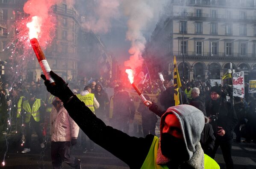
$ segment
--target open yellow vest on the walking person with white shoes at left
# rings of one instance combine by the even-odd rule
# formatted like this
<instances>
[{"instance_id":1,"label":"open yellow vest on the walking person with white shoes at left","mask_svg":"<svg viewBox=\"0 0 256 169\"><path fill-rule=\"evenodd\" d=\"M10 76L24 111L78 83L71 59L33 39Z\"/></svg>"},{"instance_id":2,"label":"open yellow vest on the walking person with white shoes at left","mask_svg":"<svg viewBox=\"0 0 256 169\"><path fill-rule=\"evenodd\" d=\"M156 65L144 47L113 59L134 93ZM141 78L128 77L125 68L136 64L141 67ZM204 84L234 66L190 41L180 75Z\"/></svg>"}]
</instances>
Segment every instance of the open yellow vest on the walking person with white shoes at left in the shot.
<instances>
[{"instance_id":1,"label":"open yellow vest on the walking person with white shoes at left","mask_svg":"<svg viewBox=\"0 0 256 169\"><path fill-rule=\"evenodd\" d=\"M22 108L25 110L25 122L30 121L30 117L33 116L36 122L40 121L40 112L39 108L41 106L41 99L35 99L35 102L32 106L32 109L29 105L29 100L23 102Z\"/></svg>"}]
</instances>

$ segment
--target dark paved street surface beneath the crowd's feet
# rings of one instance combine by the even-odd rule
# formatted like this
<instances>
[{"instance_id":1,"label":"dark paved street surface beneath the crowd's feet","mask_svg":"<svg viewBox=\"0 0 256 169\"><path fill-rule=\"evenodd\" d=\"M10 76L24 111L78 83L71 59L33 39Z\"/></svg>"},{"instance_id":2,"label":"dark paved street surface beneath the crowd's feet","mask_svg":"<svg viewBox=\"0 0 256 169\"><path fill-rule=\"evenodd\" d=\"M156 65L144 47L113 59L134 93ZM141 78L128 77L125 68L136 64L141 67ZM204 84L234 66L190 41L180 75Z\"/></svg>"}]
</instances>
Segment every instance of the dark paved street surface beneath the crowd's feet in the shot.
<instances>
[{"instance_id":1,"label":"dark paved street surface beneath the crowd's feet","mask_svg":"<svg viewBox=\"0 0 256 169\"><path fill-rule=\"evenodd\" d=\"M159 126L159 123L157 124ZM132 125L131 125L132 130ZM156 130L159 135L159 130ZM51 169L50 144L47 143L46 148L42 151L37 137L32 137L34 148L27 154L21 154L23 150L21 146L15 146L13 142L9 142L9 150L6 154L5 169ZM0 157L3 160L3 154L6 150L6 143L3 135L0 137ZM11 139L12 140L12 139ZM100 147L96 147L93 152L82 153L81 150L72 149L72 154L82 160L83 169L128 169L129 167L121 160L105 151ZM256 169L256 144L240 143L233 144L232 156L235 169ZM132 157L131 157L132 158ZM224 160L221 150L218 150L215 160L220 164L221 169L225 169ZM64 169L69 169L67 164L63 163Z\"/></svg>"}]
</instances>

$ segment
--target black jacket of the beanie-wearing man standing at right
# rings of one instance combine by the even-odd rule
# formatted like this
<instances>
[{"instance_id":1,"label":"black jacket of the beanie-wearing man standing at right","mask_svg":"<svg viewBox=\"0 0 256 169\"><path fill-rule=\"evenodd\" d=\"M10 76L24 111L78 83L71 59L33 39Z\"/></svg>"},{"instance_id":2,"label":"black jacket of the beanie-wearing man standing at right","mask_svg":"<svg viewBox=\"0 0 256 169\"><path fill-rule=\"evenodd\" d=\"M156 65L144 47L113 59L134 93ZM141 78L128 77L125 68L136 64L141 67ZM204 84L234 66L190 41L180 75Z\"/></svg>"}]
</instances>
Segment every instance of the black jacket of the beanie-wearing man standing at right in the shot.
<instances>
[{"instance_id":1,"label":"black jacket of the beanie-wearing man standing at right","mask_svg":"<svg viewBox=\"0 0 256 169\"><path fill-rule=\"evenodd\" d=\"M212 128L215 131L215 137L223 139L232 139L232 131L238 122L234 107L227 102L226 99L220 97L216 101L210 100L206 104L206 114L217 116L218 119L215 122L211 122ZM217 127L222 127L226 134L219 136L216 132L219 130Z\"/></svg>"}]
</instances>

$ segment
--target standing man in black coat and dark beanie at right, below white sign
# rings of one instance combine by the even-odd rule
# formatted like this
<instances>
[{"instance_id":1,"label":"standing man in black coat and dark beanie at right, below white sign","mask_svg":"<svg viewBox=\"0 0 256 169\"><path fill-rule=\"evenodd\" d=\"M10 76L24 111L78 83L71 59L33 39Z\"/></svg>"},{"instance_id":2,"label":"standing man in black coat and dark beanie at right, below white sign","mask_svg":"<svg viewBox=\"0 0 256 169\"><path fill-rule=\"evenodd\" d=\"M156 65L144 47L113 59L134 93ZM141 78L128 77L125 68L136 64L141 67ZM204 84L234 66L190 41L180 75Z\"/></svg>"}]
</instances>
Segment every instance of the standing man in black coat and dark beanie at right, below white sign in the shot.
<instances>
[{"instance_id":1,"label":"standing man in black coat and dark beanie at right, below white sign","mask_svg":"<svg viewBox=\"0 0 256 169\"><path fill-rule=\"evenodd\" d=\"M216 137L211 157L215 157L215 153L220 146L227 169L233 169L231 156L232 131L238 119L233 105L221 97L221 88L218 86L211 88L211 100L206 104L206 113L210 118L210 124L212 124Z\"/></svg>"}]
</instances>

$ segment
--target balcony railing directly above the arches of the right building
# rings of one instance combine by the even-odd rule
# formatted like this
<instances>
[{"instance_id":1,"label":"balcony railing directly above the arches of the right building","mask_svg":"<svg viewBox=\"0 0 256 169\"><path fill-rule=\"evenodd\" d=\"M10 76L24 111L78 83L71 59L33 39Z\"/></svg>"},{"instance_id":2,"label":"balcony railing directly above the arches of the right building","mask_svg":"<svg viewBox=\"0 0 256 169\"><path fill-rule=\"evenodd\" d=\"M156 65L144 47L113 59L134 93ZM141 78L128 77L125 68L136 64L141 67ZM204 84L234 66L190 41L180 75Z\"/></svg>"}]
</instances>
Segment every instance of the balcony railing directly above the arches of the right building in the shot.
<instances>
[{"instance_id":1,"label":"balcony railing directly above the arches of the right building","mask_svg":"<svg viewBox=\"0 0 256 169\"><path fill-rule=\"evenodd\" d=\"M173 55L176 56L183 56L182 52L174 51ZM209 57L219 57L219 58L256 58L255 53L245 53L245 55L241 55L241 53L226 53L226 52L218 52L216 54L212 54L212 52L202 52L202 53L197 53L197 52L185 52L184 53L185 57L186 56L197 56L200 58L209 58Z\"/></svg>"}]
</instances>

